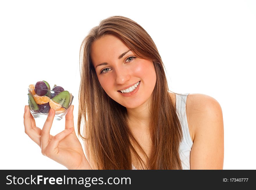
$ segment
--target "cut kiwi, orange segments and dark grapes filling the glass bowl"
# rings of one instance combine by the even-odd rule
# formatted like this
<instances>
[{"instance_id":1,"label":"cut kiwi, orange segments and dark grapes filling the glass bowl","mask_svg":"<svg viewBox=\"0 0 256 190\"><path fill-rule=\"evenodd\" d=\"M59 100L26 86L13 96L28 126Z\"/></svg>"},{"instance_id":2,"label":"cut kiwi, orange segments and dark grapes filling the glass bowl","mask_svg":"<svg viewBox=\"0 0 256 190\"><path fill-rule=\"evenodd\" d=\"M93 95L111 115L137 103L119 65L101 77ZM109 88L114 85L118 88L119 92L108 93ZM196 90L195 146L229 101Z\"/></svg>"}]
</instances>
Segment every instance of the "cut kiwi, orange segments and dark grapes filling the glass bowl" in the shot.
<instances>
[{"instance_id":1,"label":"cut kiwi, orange segments and dark grapes filling the glass bowl","mask_svg":"<svg viewBox=\"0 0 256 190\"><path fill-rule=\"evenodd\" d=\"M29 85L28 96L30 110L42 114L48 114L50 108L55 110L55 114L65 112L73 97L61 86L54 85L50 89L50 85L46 81L38 81L35 85Z\"/></svg>"}]
</instances>

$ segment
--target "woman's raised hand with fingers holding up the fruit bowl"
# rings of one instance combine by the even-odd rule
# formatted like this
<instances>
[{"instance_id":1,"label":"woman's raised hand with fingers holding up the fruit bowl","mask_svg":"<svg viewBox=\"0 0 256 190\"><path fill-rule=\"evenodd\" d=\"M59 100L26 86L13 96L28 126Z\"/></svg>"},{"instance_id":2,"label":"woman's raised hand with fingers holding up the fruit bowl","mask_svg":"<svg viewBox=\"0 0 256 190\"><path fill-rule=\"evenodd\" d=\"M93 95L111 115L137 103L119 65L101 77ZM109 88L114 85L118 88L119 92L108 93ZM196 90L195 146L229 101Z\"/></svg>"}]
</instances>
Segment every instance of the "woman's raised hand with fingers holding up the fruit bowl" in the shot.
<instances>
[{"instance_id":1,"label":"woman's raised hand with fingers holding up the fruit bowl","mask_svg":"<svg viewBox=\"0 0 256 190\"><path fill-rule=\"evenodd\" d=\"M50 135L55 110L50 109L42 130L35 125L35 119L25 106L24 127L25 133L40 146L42 154L64 165L67 169L91 169L74 131L74 106L72 105L65 116L65 130Z\"/></svg>"}]
</instances>

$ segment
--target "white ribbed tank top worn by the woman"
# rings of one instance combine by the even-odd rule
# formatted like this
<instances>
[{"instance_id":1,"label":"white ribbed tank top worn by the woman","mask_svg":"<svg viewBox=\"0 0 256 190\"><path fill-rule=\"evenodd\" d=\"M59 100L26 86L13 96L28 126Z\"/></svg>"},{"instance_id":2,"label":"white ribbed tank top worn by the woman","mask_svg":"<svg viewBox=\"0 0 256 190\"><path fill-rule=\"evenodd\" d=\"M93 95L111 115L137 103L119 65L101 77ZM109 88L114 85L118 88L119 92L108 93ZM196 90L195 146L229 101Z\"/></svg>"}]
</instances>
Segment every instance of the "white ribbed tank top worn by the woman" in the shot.
<instances>
[{"instance_id":1,"label":"white ribbed tank top worn by the woman","mask_svg":"<svg viewBox=\"0 0 256 190\"><path fill-rule=\"evenodd\" d=\"M190 153L193 146L189 134L189 126L186 115L186 100L189 93L176 94L176 113L179 118L182 127L182 141L179 145L179 157L181 160L182 169L190 169ZM132 165L132 169L136 169Z\"/></svg>"}]
</instances>

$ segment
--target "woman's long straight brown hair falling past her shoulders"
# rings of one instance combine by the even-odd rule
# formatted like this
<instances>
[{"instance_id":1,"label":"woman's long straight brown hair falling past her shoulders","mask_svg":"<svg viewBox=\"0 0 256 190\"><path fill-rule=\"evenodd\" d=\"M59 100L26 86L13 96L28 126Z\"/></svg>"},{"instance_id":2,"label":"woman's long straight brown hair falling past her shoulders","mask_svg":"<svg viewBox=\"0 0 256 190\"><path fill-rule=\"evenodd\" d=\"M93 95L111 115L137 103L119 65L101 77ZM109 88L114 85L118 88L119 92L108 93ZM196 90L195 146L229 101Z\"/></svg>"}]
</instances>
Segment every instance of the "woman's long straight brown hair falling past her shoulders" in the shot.
<instances>
[{"instance_id":1,"label":"woman's long straight brown hair falling past her shoulders","mask_svg":"<svg viewBox=\"0 0 256 190\"><path fill-rule=\"evenodd\" d=\"M151 96L149 125L153 143L151 158L130 130L126 107L111 99L98 81L90 48L107 34L117 36L137 56L154 64L156 85ZM81 44L80 75L78 134L88 147L93 169L131 169L134 161L143 169L182 169L179 158L182 129L169 95L165 68L154 41L138 23L112 16L92 28ZM148 166L136 149L148 159Z\"/></svg>"}]
</instances>

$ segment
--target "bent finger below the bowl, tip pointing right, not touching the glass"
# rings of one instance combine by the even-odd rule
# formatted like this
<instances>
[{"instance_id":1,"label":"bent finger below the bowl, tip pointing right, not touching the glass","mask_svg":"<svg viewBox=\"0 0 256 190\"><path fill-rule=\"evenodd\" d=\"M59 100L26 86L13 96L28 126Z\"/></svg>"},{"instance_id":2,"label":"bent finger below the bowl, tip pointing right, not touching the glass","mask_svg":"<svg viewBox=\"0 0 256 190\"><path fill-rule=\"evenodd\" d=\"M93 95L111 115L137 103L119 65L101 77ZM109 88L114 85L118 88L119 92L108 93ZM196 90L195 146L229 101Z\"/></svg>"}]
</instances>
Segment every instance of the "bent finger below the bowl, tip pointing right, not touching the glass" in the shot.
<instances>
[{"instance_id":1,"label":"bent finger below the bowl, tip pointing right, not touching the glass","mask_svg":"<svg viewBox=\"0 0 256 190\"><path fill-rule=\"evenodd\" d=\"M74 128L70 127L68 129L65 129L64 131L61 131L60 133L56 134L52 138L51 142L49 142L49 144L48 144L48 147L47 147L48 151L50 151L50 152L52 152L54 150L58 151L58 145L59 145L60 141L62 139L64 139L66 136L68 136L69 134L71 134L72 131L74 131Z\"/></svg>"}]
</instances>

